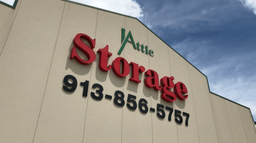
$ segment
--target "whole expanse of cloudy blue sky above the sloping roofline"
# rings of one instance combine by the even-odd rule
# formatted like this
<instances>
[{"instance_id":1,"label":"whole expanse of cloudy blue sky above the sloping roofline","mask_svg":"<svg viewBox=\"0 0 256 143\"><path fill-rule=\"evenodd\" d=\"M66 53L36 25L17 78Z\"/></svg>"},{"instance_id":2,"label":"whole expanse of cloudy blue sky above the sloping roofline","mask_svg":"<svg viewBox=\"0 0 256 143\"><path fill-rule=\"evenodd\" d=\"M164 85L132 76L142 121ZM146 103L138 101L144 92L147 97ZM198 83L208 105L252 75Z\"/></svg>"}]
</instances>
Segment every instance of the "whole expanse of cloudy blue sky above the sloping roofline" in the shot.
<instances>
[{"instance_id":1,"label":"whole expanse of cloudy blue sky above the sloping roofline","mask_svg":"<svg viewBox=\"0 0 256 143\"><path fill-rule=\"evenodd\" d=\"M256 121L256 0L72 0L138 18Z\"/></svg>"}]
</instances>

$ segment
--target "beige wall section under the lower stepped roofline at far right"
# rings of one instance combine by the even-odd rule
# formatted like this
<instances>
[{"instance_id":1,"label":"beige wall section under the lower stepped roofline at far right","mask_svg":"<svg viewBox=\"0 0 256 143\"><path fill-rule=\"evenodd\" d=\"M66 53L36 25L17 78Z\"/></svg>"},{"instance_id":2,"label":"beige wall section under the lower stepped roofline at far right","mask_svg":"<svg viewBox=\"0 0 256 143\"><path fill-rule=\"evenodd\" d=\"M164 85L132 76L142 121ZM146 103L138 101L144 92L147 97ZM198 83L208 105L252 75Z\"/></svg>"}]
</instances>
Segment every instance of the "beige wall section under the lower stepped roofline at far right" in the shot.
<instances>
[{"instance_id":1,"label":"beige wall section under the lower stepped roofline at far right","mask_svg":"<svg viewBox=\"0 0 256 143\"><path fill-rule=\"evenodd\" d=\"M250 110L210 93L219 143L254 143L255 125Z\"/></svg>"}]
</instances>

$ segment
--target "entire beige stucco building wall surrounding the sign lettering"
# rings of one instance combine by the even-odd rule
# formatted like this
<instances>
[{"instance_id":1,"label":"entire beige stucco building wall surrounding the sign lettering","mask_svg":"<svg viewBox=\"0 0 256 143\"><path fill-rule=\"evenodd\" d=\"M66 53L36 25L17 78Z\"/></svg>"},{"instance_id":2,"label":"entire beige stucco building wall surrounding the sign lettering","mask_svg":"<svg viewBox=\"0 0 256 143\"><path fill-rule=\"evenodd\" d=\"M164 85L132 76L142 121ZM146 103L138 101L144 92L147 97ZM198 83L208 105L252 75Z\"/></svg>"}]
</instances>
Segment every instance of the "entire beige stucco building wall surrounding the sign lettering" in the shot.
<instances>
[{"instance_id":1,"label":"entire beige stucco building wall surrounding the sign lettering","mask_svg":"<svg viewBox=\"0 0 256 143\"><path fill-rule=\"evenodd\" d=\"M255 126L248 108L210 93L206 77L178 55L138 20L65 2L62 0L19 0L15 10L0 4L0 142L108 142L108 143L253 143ZM16 14L17 13L17 14ZM16 16L16 17L15 17ZM5 21L5 22L2 22ZM1 23L2 22L2 23ZM13 24L12 24L13 23ZM121 55L121 29L131 31L135 43L148 46L154 57L127 43ZM9 33L10 32L10 33ZM96 60L81 65L70 60L73 39L84 33L96 39ZM165 102L161 92L144 85L146 76L139 74L140 84L117 77L112 70L100 71L98 49L109 46L112 57L152 69L159 75L174 76L183 82L188 99ZM84 54L79 52L81 57ZM72 93L63 88L63 78L71 74L78 86ZM89 81L88 96L82 97L80 82ZM103 94L112 100L95 100L90 96L103 86ZM114 104L114 93L124 93L125 105ZM173 89L172 89L173 91ZM136 96L137 108L126 106L127 96ZM147 100L148 112L138 108ZM151 112L162 104L190 114L181 124Z\"/></svg>"}]
</instances>

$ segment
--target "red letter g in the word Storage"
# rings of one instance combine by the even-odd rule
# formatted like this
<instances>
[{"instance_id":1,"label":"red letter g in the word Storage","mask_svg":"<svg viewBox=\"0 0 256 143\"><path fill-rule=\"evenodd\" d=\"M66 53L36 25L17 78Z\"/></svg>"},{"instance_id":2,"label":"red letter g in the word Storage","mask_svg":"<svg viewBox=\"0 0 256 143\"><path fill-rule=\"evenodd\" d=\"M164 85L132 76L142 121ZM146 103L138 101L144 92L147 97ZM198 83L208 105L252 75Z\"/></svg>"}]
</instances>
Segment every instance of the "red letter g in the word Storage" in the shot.
<instances>
[{"instance_id":1,"label":"red letter g in the word Storage","mask_svg":"<svg viewBox=\"0 0 256 143\"><path fill-rule=\"evenodd\" d=\"M174 80L173 76L171 76L170 78L164 76L160 80L160 83L163 86L163 88L161 89L161 98L166 102L174 102L176 100L175 94L169 90L174 87L174 83L172 80Z\"/></svg>"}]
</instances>

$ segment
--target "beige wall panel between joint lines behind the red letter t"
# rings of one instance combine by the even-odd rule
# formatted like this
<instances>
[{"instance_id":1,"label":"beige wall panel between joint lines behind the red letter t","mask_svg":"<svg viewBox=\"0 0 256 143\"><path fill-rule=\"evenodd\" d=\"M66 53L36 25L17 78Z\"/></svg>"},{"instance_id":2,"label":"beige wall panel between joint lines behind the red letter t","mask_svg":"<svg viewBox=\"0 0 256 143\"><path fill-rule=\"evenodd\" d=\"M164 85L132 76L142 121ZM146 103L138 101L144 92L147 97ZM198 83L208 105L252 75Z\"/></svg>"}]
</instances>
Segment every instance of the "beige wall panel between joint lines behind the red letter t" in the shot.
<instances>
[{"instance_id":1,"label":"beige wall panel between joint lines behind the red letter t","mask_svg":"<svg viewBox=\"0 0 256 143\"><path fill-rule=\"evenodd\" d=\"M124 16L112 14L98 10L96 27L96 46L94 51L109 46L109 52L112 53L108 64L117 57L116 51L121 47L120 32L124 27ZM120 55L123 57L122 55ZM112 70L108 72L100 71L98 67L98 54L96 61L92 64L92 74L90 78L90 92L92 85L98 83L103 86L103 94L112 95L112 100L105 99L94 100L90 94L88 96L88 106L84 128L84 142L86 143L120 143L122 139L122 108L113 103L116 90L123 90L124 78L117 77ZM126 79L127 80L127 79Z\"/></svg>"}]
</instances>

